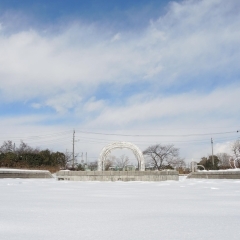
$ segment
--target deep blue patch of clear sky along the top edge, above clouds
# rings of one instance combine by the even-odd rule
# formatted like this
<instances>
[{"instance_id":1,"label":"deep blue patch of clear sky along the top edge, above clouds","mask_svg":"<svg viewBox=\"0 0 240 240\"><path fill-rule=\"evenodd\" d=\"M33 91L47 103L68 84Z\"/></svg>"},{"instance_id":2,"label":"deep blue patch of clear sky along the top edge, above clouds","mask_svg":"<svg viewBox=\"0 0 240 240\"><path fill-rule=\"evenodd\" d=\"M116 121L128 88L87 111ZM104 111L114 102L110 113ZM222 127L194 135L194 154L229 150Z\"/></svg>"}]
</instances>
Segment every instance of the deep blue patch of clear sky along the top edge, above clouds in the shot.
<instances>
[{"instance_id":1,"label":"deep blue patch of clear sky along the top edge, above clouds","mask_svg":"<svg viewBox=\"0 0 240 240\"><path fill-rule=\"evenodd\" d=\"M72 21L85 23L101 22L109 27L121 29L139 29L148 23L149 18L157 19L159 14L166 12L168 1L1 1L0 11L6 14L18 14L22 23L17 27L35 26L45 28L68 24ZM31 21L29 21L31 19ZM16 26L15 24L13 24ZM14 26L12 26L14 28Z\"/></svg>"}]
</instances>

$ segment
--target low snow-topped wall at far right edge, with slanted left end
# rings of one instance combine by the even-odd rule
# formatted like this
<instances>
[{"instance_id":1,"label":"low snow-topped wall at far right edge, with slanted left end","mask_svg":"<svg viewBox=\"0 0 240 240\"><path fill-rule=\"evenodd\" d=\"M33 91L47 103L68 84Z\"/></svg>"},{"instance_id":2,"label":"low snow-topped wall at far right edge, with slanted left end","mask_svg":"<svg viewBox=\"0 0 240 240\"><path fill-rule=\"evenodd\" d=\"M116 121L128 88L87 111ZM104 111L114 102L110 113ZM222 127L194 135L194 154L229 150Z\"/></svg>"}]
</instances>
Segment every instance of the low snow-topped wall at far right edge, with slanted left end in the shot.
<instances>
[{"instance_id":1,"label":"low snow-topped wall at far right edge, with slanted left end","mask_svg":"<svg viewBox=\"0 0 240 240\"><path fill-rule=\"evenodd\" d=\"M187 178L209 178L209 179L240 179L239 170L216 170L198 171L190 173Z\"/></svg>"}]
</instances>

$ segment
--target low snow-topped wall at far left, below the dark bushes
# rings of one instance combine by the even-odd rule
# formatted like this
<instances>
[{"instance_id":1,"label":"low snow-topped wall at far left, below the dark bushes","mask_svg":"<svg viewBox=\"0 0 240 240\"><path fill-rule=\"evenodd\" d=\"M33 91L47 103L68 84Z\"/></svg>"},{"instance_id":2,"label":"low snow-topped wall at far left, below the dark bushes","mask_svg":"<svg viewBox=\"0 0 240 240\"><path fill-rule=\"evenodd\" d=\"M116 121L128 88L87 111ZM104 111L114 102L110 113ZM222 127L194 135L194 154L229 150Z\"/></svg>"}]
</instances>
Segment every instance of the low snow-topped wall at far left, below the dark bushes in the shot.
<instances>
[{"instance_id":1,"label":"low snow-topped wall at far left, below the dark bushes","mask_svg":"<svg viewBox=\"0 0 240 240\"><path fill-rule=\"evenodd\" d=\"M53 178L47 170L1 169L0 178Z\"/></svg>"}]
</instances>

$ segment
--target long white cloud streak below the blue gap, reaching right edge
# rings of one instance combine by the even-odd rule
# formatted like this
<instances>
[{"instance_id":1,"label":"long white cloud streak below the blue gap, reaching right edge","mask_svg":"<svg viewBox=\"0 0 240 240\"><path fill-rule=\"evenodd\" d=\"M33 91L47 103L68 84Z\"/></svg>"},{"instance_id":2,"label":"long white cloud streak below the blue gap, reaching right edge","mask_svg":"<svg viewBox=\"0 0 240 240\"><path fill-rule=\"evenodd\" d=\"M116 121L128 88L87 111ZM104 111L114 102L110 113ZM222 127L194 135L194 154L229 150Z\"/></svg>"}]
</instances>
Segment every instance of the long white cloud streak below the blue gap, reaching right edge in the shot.
<instances>
[{"instance_id":1,"label":"long white cloud streak below the blue gap, reaching right edge","mask_svg":"<svg viewBox=\"0 0 240 240\"><path fill-rule=\"evenodd\" d=\"M201 119L206 121L205 116L212 118L213 121L219 116L235 117L240 111L240 107L235 104L238 101L239 92L240 87L234 85L225 89L216 89L207 94L190 92L169 97L154 97L149 100L145 100L146 95L144 95L140 99L136 98L136 101L130 100L126 106L106 106L99 117L92 121L91 126L128 125L154 119L161 121L161 118L185 120L193 116L196 122Z\"/></svg>"}]
</instances>

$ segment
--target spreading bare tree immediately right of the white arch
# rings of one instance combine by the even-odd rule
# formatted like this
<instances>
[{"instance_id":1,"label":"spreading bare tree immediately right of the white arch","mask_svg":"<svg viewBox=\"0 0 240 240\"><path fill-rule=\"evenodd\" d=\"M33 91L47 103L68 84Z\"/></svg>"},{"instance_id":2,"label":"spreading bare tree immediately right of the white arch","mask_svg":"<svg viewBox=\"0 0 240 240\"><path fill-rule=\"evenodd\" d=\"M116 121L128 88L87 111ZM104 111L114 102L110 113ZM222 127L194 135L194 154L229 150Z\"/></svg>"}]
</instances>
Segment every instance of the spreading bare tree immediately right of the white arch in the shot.
<instances>
[{"instance_id":1,"label":"spreading bare tree immediately right of the white arch","mask_svg":"<svg viewBox=\"0 0 240 240\"><path fill-rule=\"evenodd\" d=\"M175 148L173 144L156 144L150 146L143 151L143 155L147 156L150 166L158 170L164 169L166 165L171 165L181 160L179 149Z\"/></svg>"}]
</instances>

